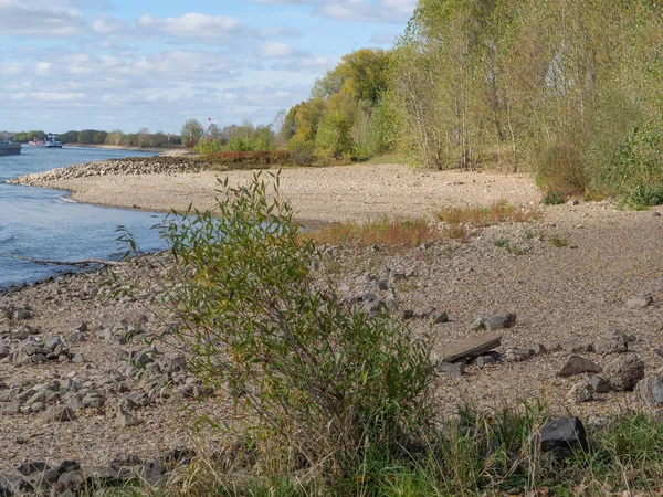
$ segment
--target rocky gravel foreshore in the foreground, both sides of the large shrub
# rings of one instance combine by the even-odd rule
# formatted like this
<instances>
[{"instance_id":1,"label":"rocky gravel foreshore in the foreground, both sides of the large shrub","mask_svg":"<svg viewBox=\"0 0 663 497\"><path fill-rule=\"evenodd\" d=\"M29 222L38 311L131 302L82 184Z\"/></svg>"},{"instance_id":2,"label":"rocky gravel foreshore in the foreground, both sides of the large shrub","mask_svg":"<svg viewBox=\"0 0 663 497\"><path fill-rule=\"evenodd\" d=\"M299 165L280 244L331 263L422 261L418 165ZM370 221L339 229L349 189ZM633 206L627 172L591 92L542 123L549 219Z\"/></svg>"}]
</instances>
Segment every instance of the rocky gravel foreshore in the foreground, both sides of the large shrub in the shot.
<instances>
[{"instance_id":1,"label":"rocky gravel foreshore in the foreground, both sides of the large shrub","mask_svg":"<svg viewBox=\"0 0 663 497\"><path fill-rule=\"evenodd\" d=\"M535 222L477 230L467 243L327 246L319 275L369 310L394 305L442 357L499 335L477 356L438 364L444 415L464 402L517 409L540 399L554 413L602 423L663 406L662 237L652 212L569 203ZM95 474L162 482L169 454L222 446L219 433L201 442L192 427L202 415L231 422L232 399L196 379L186 353L147 340L164 326L150 308L166 257L123 264L117 279L94 271L0 293L0 495L11 495L10 483L34 488L40 474L62 493Z\"/></svg>"}]
</instances>

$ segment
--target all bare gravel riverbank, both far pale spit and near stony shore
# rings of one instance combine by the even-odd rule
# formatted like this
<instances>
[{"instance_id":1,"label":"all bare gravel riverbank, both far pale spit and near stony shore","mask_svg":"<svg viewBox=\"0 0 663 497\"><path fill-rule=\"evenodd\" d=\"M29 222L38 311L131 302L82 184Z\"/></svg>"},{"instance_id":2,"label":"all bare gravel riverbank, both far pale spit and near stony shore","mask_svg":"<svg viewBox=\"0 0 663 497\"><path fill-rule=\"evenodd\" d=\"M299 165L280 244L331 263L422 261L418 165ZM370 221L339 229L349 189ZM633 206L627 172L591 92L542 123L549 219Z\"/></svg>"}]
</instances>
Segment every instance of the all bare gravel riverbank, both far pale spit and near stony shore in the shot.
<instances>
[{"instance_id":1,"label":"all bare gravel riverbank, both far pale spit and near stony shore","mask_svg":"<svg viewBox=\"0 0 663 497\"><path fill-rule=\"evenodd\" d=\"M96 192L97 200L122 207L213 204L218 175L140 172L41 178L43 184L70 184L78 189L74 195L88 195L80 200L95 199ZM536 205L539 199L524 177L413 171L398 165L292 169L282 175L283 192L301 219L320 222L430 215L442 204L485 205L504 198ZM228 173L231 182L251 176ZM648 411L632 390L594 392L583 402L569 399L576 383L596 373L559 372L578 355L604 376L612 374L612 364L628 356L622 353L625 349L597 345L619 341L611 338L615 329L628 337L624 347L642 361L643 374L656 374L663 366L656 352L663 322L663 218L654 214L660 212L615 210L607 201L568 203L545 208L540 219L529 223L476 230L466 243L372 251L336 245L326 251L320 276L329 277L347 299L369 294L387 299L393 290L398 308L411 311L414 330L431 334L432 351L481 335L472 329L477 317L516 315L513 326L498 330L502 343L495 351L501 362L440 376L435 396L446 414L464 402L518 409L523 399L543 399L554 413L583 419ZM141 357L149 348L144 338L162 326L149 311L150 295L159 288L155 271L160 262L151 256L120 266L118 282L109 287L102 285L107 275L92 273L0 296L0 340L7 353L0 359L0 445L7 447L0 469L28 461L57 465L67 458L103 466L117 453L154 459L172 448L199 448L190 427L200 414L217 421L231 415L232 399L197 383L182 369L178 351L157 345L150 352L150 364L157 366L136 368L129 361ZM136 290L113 298L123 287ZM633 305L630 299L640 296L644 298ZM431 307L446 313L449 320L431 327L425 310ZM134 340L126 341L128 335ZM61 339L66 352L34 361L23 355L25 362L18 364L15 353L25 351L25 340L36 338L42 343ZM61 392L56 396L48 393L54 382ZM43 400L39 392L44 392ZM192 402L193 398L204 400ZM53 409L64 405L72 406L73 421L53 419ZM213 452L214 437L207 443Z\"/></svg>"}]
</instances>

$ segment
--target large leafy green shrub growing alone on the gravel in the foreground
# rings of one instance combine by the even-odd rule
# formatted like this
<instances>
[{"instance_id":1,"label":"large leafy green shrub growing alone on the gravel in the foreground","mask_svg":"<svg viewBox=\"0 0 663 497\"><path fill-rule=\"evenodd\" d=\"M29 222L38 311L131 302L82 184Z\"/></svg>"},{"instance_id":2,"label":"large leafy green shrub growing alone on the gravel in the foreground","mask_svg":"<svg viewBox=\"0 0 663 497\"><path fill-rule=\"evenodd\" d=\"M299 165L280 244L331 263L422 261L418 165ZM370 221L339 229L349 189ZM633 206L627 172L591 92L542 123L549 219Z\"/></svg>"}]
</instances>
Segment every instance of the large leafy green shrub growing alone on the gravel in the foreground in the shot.
<instances>
[{"instance_id":1,"label":"large leafy green shrub growing alone on the gravel in the foreground","mask_svg":"<svg viewBox=\"0 0 663 497\"><path fill-rule=\"evenodd\" d=\"M181 325L160 338L234 394L249 437L281 468L354 475L368 448L389 457L428 421L427 342L388 308L343 304L314 278L316 246L273 179L274 190L260 173L248 187L225 180L214 212L167 219L176 268L165 304Z\"/></svg>"}]
</instances>

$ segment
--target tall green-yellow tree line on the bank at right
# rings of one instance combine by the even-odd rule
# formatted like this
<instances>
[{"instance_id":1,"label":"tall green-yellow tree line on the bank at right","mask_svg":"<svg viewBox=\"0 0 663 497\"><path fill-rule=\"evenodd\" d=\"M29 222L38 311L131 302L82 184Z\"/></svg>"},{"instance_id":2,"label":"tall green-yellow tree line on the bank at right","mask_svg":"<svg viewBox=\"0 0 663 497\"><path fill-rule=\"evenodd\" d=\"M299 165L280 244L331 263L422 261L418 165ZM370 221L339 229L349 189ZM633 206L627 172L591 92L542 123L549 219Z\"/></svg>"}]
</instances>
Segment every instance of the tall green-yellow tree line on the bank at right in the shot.
<instances>
[{"instance_id":1,"label":"tall green-yellow tree line on the bank at right","mask_svg":"<svg viewBox=\"0 0 663 497\"><path fill-rule=\"evenodd\" d=\"M276 139L663 201L662 20L655 0L420 0L393 49L344 56Z\"/></svg>"}]
</instances>

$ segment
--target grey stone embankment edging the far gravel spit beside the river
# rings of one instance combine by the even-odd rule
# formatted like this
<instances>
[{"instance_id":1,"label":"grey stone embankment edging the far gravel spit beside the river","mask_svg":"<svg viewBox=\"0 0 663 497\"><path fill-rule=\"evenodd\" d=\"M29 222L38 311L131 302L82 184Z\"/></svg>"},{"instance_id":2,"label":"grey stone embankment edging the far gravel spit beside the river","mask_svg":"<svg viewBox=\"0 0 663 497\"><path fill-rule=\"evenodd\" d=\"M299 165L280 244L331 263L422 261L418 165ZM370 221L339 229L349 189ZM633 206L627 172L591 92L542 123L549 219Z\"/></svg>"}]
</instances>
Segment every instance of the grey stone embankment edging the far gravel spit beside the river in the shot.
<instances>
[{"instance_id":1,"label":"grey stone embankment edging the far gravel spit beside the river","mask_svg":"<svg viewBox=\"0 0 663 497\"><path fill-rule=\"evenodd\" d=\"M129 157L70 166L7 180L11 184L48 187L53 181L107 175L177 175L200 172L209 163L197 157Z\"/></svg>"}]
</instances>

